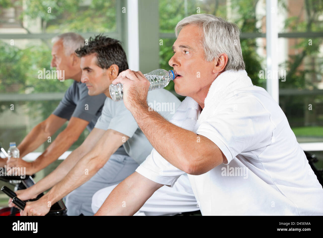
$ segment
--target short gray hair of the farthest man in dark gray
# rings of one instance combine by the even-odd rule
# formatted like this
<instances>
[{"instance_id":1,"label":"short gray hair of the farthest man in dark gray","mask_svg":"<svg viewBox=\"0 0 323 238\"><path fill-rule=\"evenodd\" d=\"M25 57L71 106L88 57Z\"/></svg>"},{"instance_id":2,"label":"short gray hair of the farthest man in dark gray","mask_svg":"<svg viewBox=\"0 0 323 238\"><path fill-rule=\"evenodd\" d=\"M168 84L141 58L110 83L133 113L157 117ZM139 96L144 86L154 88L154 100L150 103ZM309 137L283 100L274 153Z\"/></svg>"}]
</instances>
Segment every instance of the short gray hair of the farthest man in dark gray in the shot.
<instances>
[{"instance_id":1,"label":"short gray hair of the farthest man in dark gray","mask_svg":"<svg viewBox=\"0 0 323 238\"><path fill-rule=\"evenodd\" d=\"M84 38L81 35L73 32L68 32L55 36L52 39L52 43L54 44L58 40L63 41L65 55L70 55L78 48L84 46Z\"/></svg>"}]
</instances>

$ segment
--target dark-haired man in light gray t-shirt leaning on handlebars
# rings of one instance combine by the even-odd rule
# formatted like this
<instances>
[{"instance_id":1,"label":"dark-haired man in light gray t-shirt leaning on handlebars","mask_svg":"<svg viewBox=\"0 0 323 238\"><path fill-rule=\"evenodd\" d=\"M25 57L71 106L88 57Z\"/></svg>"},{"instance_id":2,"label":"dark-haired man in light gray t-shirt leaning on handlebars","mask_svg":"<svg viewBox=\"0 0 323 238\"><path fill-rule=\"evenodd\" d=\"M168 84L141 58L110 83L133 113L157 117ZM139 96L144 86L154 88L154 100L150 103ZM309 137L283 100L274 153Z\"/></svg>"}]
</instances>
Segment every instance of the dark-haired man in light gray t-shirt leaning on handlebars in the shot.
<instances>
[{"instance_id":1,"label":"dark-haired man in light gray t-shirt leaning on handlebars","mask_svg":"<svg viewBox=\"0 0 323 238\"><path fill-rule=\"evenodd\" d=\"M93 194L99 189L120 183L135 171L152 150L151 144L124 103L114 102L110 98L109 85L119 72L128 68L126 54L120 42L97 36L95 39L90 38L89 45L76 53L81 57L81 82L87 85L89 95L104 93L107 96L102 114L82 145L56 170L36 185L18 192L18 198L26 200L35 198L52 187L39 200L27 202L22 215L45 215L49 211L49 202L54 204L66 195L68 215L93 215ZM154 102L154 105L172 104L174 110L180 104L165 89L151 91L148 102ZM173 113L169 110L160 112L166 119L170 119ZM185 209L189 210L184 211L199 210L193 192L191 194L189 199L184 198L191 202L189 205L186 203ZM183 210L178 210L181 211Z\"/></svg>"}]
</instances>

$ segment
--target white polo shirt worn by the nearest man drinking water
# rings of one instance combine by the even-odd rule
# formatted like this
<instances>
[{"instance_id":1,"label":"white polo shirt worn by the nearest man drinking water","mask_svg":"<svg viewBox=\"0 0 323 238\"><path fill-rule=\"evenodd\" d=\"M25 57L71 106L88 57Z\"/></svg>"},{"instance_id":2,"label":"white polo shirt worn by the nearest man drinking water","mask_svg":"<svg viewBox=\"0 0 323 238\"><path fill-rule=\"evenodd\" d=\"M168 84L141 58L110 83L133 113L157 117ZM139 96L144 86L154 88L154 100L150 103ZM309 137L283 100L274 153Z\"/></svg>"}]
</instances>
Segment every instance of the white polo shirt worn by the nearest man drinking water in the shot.
<instances>
[{"instance_id":1,"label":"white polo shirt worn by the nearest man drinking water","mask_svg":"<svg viewBox=\"0 0 323 238\"><path fill-rule=\"evenodd\" d=\"M220 98L221 90L234 81L229 74L220 76L216 80L221 86L214 89L217 106L208 108L207 118L193 129L213 141L228 160L205 174L189 175L202 214L323 215L322 186L279 105L254 85L235 88ZM192 101L196 103L186 97L182 104ZM196 120L201 108L195 110ZM155 149L136 171L170 187L184 173Z\"/></svg>"}]
</instances>

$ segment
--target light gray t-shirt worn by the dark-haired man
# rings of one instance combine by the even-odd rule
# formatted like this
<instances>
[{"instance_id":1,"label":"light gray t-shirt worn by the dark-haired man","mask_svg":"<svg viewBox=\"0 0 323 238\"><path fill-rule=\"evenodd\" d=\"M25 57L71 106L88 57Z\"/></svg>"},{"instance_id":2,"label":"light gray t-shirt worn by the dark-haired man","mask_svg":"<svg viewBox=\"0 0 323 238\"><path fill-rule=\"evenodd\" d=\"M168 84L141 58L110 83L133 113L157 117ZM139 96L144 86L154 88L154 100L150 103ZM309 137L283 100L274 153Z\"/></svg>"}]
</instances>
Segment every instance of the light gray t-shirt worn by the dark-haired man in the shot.
<instances>
[{"instance_id":1,"label":"light gray t-shirt worn by the dark-haired man","mask_svg":"<svg viewBox=\"0 0 323 238\"><path fill-rule=\"evenodd\" d=\"M167 120L172 118L181 103L176 96L165 89L149 91L147 102L148 106ZM152 145L138 127L131 112L124 106L123 101L114 102L107 97L95 128L112 129L129 136L129 140L123 143L123 147L138 164L141 164L151 153ZM118 151L116 153L119 153Z\"/></svg>"}]
</instances>

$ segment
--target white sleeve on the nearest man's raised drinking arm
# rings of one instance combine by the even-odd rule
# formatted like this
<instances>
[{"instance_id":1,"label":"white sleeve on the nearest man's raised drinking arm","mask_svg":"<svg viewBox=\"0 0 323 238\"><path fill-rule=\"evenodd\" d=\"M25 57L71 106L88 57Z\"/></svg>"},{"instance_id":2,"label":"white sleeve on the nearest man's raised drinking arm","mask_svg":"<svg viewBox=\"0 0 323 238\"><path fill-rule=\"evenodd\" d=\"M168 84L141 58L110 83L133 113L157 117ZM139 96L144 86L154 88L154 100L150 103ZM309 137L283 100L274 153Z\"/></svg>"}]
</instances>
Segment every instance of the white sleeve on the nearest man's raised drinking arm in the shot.
<instances>
[{"instance_id":1,"label":"white sleeve on the nearest man's raised drinking arm","mask_svg":"<svg viewBox=\"0 0 323 238\"><path fill-rule=\"evenodd\" d=\"M229 164L238 154L271 143L275 125L270 116L256 98L242 96L221 105L212 117L201 123L196 134L214 142Z\"/></svg>"}]
</instances>

